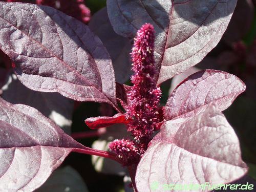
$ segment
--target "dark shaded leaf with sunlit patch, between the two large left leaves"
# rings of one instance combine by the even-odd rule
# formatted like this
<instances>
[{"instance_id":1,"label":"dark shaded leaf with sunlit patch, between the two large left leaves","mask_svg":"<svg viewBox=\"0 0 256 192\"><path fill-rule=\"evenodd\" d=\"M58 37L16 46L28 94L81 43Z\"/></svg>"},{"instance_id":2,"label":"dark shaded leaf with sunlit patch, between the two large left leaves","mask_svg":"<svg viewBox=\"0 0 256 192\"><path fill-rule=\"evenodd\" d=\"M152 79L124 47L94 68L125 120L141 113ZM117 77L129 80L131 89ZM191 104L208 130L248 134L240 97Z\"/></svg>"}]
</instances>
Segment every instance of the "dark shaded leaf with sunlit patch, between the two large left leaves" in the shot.
<instances>
[{"instance_id":1,"label":"dark shaded leaf with sunlit patch, between the two large left leaves","mask_svg":"<svg viewBox=\"0 0 256 192\"><path fill-rule=\"evenodd\" d=\"M2 88L2 98L12 104L26 104L52 119L67 134L71 134L74 102L59 93L37 92L25 87L14 74Z\"/></svg>"}]
</instances>

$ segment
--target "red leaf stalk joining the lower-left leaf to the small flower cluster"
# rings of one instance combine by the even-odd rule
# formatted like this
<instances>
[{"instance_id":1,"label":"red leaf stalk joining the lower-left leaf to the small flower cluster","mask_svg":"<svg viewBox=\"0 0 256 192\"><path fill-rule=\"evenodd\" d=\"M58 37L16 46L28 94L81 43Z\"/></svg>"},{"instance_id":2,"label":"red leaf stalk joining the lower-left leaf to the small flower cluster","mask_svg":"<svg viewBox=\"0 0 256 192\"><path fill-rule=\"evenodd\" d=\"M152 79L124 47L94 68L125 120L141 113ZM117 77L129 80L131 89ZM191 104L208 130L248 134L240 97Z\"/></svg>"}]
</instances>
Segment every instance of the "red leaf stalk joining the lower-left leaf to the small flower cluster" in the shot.
<instances>
[{"instance_id":1,"label":"red leaf stalk joining the lower-left leaf to the small flower cluster","mask_svg":"<svg viewBox=\"0 0 256 192\"><path fill-rule=\"evenodd\" d=\"M117 161L120 164L123 164L122 159L117 157L116 154L101 150L95 150L94 148L85 147L85 148L74 148L73 152L87 154L87 155L96 155L99 157L105 157Z\"/></svg>"}]
</instances>

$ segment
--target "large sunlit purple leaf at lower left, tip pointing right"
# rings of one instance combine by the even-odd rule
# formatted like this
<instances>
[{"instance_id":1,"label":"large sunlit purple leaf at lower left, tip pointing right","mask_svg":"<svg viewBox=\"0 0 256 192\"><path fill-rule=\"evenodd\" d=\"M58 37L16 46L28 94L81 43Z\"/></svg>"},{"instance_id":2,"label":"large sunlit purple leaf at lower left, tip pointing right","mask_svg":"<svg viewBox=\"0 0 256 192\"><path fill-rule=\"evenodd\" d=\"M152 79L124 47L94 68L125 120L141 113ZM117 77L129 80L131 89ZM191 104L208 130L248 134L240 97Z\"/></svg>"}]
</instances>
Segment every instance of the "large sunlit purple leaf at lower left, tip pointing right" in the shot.
<instances>
[{"instance_id":1,"label":"large sunlit purple leaf at lower left, tip pointing right","mask_svg":"<svg viewBox=\"0 0 256 192\"><path fill-rule=\"evenodd\" d=\"M36 109L0 98L0 190L33 191L75 148L86 148Z\"/></svg>"}]
</instances>

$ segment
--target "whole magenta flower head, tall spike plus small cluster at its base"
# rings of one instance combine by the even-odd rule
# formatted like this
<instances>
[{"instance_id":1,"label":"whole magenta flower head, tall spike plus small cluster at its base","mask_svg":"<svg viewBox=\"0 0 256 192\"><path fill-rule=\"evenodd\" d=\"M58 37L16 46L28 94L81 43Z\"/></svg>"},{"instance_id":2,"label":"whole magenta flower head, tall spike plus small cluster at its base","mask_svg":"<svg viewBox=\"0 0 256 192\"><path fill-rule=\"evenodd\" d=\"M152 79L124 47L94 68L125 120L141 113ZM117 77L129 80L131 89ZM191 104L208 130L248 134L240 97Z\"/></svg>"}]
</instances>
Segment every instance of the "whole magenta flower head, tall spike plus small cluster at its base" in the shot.
<instances>
[{"instance_id":1,"label":"whole magenta flower head, tall spike plus small cluster at its base","mask_svg":"<svg viewBox=\"0 0 256 192\"><path fill-rule=\"evenodd\" d=\"M133 86L127 93L126 117L132 121L127 124L134 140L121 139L110 143L109 148L124 160L125 165L138 163L144 154L159 119L160 88L155 84L154 61L155 31L151 24L138 30L132 50Z\"/></svg>"}]
</instances>

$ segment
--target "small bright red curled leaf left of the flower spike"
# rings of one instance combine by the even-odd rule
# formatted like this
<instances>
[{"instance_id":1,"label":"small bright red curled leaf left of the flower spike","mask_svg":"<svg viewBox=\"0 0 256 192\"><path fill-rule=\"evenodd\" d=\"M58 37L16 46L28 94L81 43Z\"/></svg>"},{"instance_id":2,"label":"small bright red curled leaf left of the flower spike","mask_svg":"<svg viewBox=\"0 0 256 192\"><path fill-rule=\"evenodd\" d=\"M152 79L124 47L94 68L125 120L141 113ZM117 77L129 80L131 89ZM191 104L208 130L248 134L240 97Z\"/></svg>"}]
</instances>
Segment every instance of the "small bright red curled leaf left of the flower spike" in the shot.
<instances>
[{"instance_id":1,"label":"small bright red curled leaf left of the flower spike","mask_svg":"<svg viewBox=\"0 0 256 192\"><path fill-rule=\"evenodd\" d=\"M100 129L102 127L110 126L116 123L127 124L129 119L126 119L124 114L118 113L113 117L90 117L87 118L85 122L91 129Z\"/></svg>"}]
</instances>

